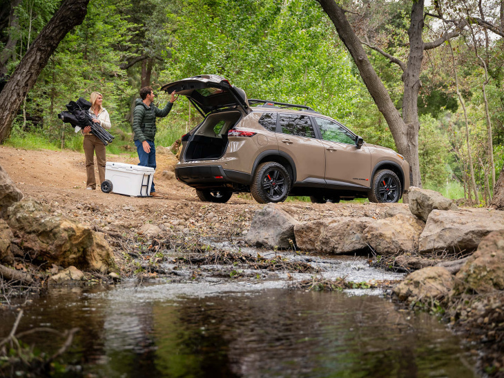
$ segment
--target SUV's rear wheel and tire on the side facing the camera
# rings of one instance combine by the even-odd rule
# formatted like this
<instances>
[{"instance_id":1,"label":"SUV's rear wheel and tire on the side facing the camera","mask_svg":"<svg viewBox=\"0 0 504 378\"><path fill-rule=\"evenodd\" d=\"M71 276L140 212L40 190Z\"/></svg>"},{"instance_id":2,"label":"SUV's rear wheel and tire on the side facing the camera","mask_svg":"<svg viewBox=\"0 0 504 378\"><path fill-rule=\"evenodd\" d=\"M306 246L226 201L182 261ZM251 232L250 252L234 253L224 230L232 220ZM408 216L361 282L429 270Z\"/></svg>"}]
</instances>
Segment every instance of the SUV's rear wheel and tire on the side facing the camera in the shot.
<instances>
[{"instance_id":1,"label":"SUV's rear wheel and tire on the side facing the camera","mask_svg":"<svg viewBox=\"0 0 504 378\"><path fill-rule=\"evenodd\" d=\"M255 170L251 195L259 203L285 201L291 191L291 177L280 163L266 161Z\"/></svg>"}]
</instances>

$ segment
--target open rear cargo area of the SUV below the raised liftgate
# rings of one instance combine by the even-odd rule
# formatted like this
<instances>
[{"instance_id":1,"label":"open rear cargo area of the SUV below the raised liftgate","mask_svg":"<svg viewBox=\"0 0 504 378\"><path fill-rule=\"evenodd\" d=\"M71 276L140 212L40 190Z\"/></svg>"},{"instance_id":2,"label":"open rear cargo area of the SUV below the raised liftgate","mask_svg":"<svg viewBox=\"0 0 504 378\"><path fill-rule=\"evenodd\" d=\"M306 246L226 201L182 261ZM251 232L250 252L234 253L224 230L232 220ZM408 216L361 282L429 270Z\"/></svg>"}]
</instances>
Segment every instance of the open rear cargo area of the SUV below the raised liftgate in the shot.
<instances>
[{"instance_id":1,"label":"open rear cargo area of the SUV below the raised liftgate","mask_svg":"<svg viewBox=\"0 0 504 378\"><path fill-rule=\"evenodd\" d=\"M188 141L184 160L219 159L226 152L228 130L242 118L241 112L222 112L206 117Z\"/></svg>"}]
</instances>

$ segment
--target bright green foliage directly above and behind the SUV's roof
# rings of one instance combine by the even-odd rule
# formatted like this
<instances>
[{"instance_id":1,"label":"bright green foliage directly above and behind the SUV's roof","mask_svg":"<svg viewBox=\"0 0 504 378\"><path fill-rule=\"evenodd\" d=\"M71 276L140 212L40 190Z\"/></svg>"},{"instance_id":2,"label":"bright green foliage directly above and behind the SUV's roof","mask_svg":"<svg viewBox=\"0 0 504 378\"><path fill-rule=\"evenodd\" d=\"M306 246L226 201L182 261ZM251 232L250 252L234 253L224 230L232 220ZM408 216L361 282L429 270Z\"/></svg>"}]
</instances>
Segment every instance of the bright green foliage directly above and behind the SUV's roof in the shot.
<instances>
[{"instance_id":1,"label":"bright green foliage directly above and behind the SUV's roof","mask_svg":"<svg viewBox=\"0 0 504 378\"><path fill-rule=\"evenodd\" d=\"M180 9L174 62L160 81L216 73L249 98L302 103L351 118L360 83L316 3L181 0Z\"/></svg>"}]
</instances>

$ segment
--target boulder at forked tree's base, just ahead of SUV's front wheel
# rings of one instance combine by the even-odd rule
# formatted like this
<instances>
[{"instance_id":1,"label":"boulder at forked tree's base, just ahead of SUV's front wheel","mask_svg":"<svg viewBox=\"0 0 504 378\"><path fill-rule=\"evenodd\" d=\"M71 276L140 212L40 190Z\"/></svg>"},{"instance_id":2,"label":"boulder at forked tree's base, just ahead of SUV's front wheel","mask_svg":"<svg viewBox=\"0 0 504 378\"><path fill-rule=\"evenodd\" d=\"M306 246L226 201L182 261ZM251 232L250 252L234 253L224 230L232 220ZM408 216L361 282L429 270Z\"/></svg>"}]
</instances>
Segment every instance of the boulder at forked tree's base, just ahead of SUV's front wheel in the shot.
<instances>
[{"instance_id":1,"label":"boulder at forked tree's base, just ahead of SUV's front wheel","mask_svg":"<svg viewBox=\"0 0 504 378\"><path fill-rule=\"evenodd\" d=\"M441 193L429 189L409 187L409 210L423 221L427 221L429 214L434 209L458 210L451 199L447 199Z\"/></svg>"}]
</instances>

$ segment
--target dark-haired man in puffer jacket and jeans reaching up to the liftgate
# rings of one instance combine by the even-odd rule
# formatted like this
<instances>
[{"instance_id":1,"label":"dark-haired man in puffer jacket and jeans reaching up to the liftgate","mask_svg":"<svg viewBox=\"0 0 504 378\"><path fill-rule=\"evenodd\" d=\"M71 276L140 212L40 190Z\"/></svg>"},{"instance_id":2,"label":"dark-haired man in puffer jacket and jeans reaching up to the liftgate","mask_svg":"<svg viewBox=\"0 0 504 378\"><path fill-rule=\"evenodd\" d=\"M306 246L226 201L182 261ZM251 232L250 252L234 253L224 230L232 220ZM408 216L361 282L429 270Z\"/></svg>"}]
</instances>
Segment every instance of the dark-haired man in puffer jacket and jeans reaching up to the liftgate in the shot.
<instances>
[{"instance_id":1,"label":"dark-haired man in puffer jacket and jeans reaching up to the liftgate","mask_svg":"<svg viewBox=\"0 0 504 378\"><path fill-rule=\"evenodd\" d=\"M156 148L154 138L156 135L156 117L166 117L173 103L177 100L175 90L171 94L170 101L163 110L153 104L155 94L153 88L144 87L140 90L141 99L135 101L133 110L133 132L135 133L135 146L137 147L139 166L156 169ZM161 197L156 193L154 180L151 186L151 196Z\"/></svg>"}]
</instances>

